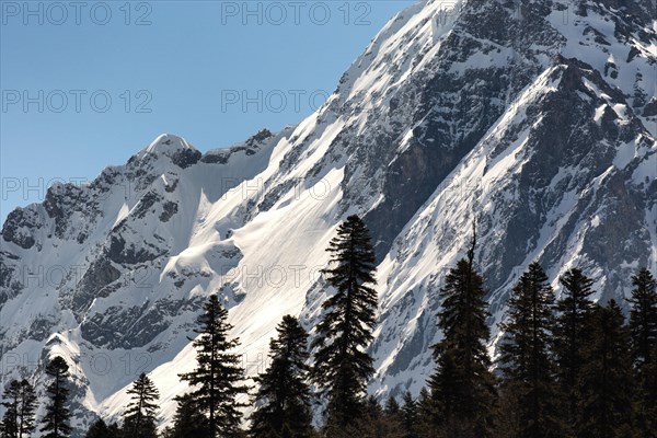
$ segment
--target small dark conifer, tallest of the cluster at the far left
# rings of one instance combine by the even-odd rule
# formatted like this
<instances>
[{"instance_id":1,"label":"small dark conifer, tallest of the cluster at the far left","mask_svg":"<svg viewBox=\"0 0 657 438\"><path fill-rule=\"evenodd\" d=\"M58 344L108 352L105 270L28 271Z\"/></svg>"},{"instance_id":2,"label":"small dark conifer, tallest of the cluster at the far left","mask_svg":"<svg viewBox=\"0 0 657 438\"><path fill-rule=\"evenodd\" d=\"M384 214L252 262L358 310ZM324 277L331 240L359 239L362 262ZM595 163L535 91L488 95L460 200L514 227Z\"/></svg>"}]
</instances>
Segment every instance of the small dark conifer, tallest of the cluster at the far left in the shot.
<instances>
[{"instance_id":1,"label":"small dark conifer, tallest of the cluster at the far left","mask_svg":"<svg viewBox=\"0 0 657 438\"><path fill-rule=\"evenodd\" d=\"M53 380L47 388L48 404L46 415L42 419L39 431L44 438L66 438L71 433L69 425L70 411L67 406L69 389L67 388L69 366L60 356L55 357L46 366L46 374Z\"/></svg>"}]
</instances>

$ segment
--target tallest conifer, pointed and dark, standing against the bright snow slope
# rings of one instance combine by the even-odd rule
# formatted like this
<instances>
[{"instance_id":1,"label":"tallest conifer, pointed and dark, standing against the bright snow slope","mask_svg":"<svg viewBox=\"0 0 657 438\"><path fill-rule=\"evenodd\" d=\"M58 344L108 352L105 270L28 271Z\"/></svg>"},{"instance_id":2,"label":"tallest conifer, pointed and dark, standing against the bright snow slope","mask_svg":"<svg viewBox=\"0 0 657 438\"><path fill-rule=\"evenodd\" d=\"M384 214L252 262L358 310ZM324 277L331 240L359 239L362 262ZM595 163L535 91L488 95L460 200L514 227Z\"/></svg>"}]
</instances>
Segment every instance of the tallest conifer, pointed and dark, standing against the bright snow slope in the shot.
<instances>
[{"instance_id":1,"label":"tallest conifer, pointed and dark, standing against the bright snow slope","mask_svg":"<svg viewBox=\"0 0 657 438\"><path fill-rule=\"evenodd\" d=\"M344 429L362 416L367 383L373 374L367 348L376 324L374 251L367 227L349 216L331 240L331 268L324 269L335 295L323 304L312 342L312 379L327 395L326 425Z\"/></svg>"}]
</instances>

